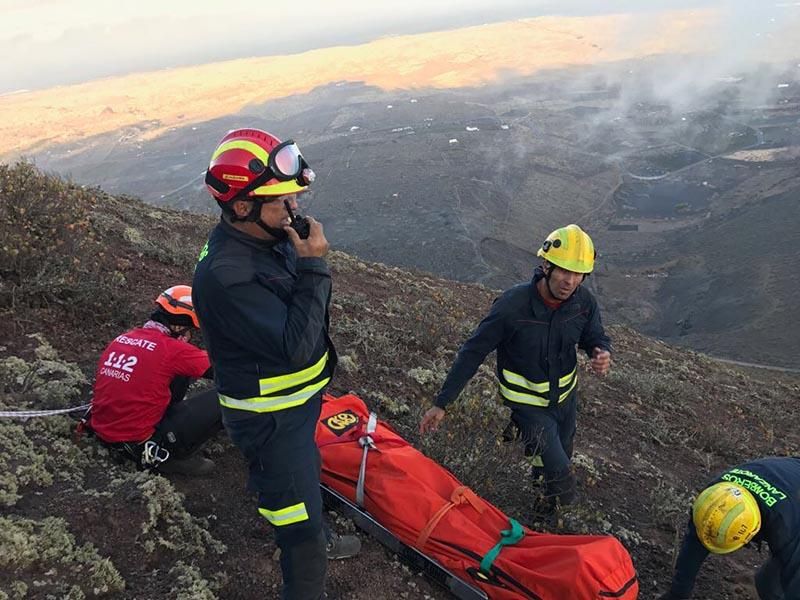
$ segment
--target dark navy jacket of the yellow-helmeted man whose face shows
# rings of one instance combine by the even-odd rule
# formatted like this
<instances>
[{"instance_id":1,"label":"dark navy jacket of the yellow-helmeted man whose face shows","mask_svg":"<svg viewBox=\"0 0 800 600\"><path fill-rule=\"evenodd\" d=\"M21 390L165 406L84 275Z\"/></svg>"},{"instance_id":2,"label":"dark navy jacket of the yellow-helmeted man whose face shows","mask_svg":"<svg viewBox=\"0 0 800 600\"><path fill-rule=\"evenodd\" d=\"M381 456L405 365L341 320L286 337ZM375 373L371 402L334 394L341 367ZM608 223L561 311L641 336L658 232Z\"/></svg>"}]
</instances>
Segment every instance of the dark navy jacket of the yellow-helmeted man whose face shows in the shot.
<instances>
[{"instance_id":1,"label":"dark navy jacket of the yellow-helmeted man whose face shows","mask_svg":"<svg viewBox=\"0 0 800 600\"><path fill-rule=\"evenodd\" d=\"M494 301L489 314L458 351L436 397L436 406L445 408L455 400L493 350L497 350L497 373L504 385L529 393L505 382L503 369L531 382L549 382L550 406L558 404L564 389L559 388L559 379L577 366L576 346L589 356L595 347L611 350L592 293L581 285L553 310L536 289L542 277L544 273L537 269L532 281L512 287Z\"/></svg>"}]
</instances>

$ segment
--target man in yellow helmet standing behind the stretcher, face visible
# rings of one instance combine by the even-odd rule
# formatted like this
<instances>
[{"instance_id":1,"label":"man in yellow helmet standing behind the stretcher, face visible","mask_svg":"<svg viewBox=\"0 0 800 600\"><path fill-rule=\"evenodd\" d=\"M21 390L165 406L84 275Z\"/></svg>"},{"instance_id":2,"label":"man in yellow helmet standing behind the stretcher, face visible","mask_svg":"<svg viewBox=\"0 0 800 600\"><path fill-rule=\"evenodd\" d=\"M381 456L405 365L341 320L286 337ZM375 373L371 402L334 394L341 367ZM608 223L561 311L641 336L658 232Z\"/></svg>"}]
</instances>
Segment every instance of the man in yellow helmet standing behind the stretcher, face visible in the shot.
<instances>
[{"instance_id":1,"label":"man in yellow helmet standing behind the stretcher, face visible","mask_svg":"<svg viewBox=\"0 0 800 600\"><path fill-rule=\"evenodd\" d=\"M598 375L611 366L611 340L594 296L581 283L594 269L591 238L577 225L553 231L538 255L533 280L507 290L458 352L447 379L420 423L435 430L486 356L497 350L500 396L532 457L534 477L544 475L545 502L569 504L575 496L572 445L578 380L576 346Z\"/></svg>"}]
</instances>

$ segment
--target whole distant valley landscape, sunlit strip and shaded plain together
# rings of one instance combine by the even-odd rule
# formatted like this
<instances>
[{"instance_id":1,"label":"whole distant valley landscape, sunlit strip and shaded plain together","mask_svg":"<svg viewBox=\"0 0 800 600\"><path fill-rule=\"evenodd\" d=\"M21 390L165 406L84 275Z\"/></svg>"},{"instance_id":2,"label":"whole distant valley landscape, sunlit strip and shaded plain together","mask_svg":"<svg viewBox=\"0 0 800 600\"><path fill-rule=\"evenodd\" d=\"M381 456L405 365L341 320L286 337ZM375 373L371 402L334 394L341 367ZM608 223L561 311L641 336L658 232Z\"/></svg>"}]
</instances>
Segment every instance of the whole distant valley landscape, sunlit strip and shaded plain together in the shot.
<instances>
[{"instance_id":1,"label":"whole distant valley landscape, sunlit strip and shaded plain together","mask_svg":"<svg viewBox=\"0 0 800 600\"><path fill-rule=\"evenodd\" d=\"M0 98L0 157L212 213L210 152L263 127L316 169L337 248L502 288L578 222L608 318L792 367L798 37L791 6L713 3L132 74Z\"/></svg>"}]
</instances>

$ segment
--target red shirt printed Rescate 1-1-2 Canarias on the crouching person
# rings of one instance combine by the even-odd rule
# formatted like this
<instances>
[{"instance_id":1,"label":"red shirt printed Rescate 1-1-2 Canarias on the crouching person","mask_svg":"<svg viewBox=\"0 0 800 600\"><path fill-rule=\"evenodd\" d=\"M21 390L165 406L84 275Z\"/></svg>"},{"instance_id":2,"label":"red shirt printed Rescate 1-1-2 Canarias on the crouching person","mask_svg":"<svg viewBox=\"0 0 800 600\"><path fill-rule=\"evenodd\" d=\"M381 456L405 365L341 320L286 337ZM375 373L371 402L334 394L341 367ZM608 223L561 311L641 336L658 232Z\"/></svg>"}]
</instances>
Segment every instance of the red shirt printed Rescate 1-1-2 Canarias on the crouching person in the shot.
<instances>
[{"instance_id":1,"label":"red shirt printed Rescate 1-1-2 Canarias on the crouching person","mask_svg":"<svg viewBox=\"0 0 800 600\"><path fill-rule=\"evenodd\" d=\"M106 442L149 439L169 406L172 380L199 378L210 366L205 350L150 323L114 338L97 363L89 425Z\"/></svg>"}]
</instances>

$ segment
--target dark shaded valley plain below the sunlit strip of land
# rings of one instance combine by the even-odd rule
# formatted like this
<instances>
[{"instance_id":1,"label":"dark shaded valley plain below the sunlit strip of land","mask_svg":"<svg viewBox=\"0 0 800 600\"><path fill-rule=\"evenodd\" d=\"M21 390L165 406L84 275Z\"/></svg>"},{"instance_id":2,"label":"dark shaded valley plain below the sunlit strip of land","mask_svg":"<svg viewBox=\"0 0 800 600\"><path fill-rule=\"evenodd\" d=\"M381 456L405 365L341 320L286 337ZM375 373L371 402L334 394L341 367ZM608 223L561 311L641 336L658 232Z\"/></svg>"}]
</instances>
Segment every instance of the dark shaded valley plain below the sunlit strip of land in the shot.
<instances>
[{"instance_id":1,"label":"dark shaded valley plain below the sunlit strip of land","mask_svg":"<svg viewBox=\"0 0 800 600\"><path fill-rule=\"evenodd\" d=\"M341 250L503 288L530 277L550 230L577 222L600 252L587 285L613 321L791 367L800 69L764 65L697 88L671 79L702 68L662 56L450 90L339 82L33 158L112 193L214 213L207 155L225 131L262 127L300 144L318 174L301 203ZM766 252L765 236L783 241Z\"/></svg>"}]
</instances>

